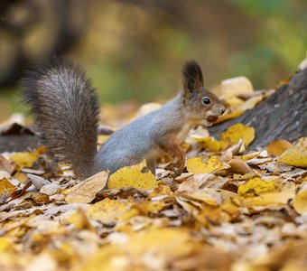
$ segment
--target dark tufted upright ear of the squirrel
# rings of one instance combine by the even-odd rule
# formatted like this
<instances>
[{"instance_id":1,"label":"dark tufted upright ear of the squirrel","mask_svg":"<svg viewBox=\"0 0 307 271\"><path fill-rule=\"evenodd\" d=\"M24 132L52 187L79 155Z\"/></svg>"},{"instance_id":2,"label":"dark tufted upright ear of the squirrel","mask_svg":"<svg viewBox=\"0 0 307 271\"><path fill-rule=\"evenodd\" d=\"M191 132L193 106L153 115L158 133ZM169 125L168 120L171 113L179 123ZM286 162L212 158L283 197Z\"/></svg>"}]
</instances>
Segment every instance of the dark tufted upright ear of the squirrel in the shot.
<instances>
[{"instance_id":1,"label":"dark tufted upright ear of the squirrel","mask_svg":"<svg viewBox=\"0 0 307 271\"><path fill-rule=\"evenodd\" d=\"M183 65L182 80L184 91L194 92L203 87L202 72L196 61L188 61Z\"/></svg>"}]
</instances>

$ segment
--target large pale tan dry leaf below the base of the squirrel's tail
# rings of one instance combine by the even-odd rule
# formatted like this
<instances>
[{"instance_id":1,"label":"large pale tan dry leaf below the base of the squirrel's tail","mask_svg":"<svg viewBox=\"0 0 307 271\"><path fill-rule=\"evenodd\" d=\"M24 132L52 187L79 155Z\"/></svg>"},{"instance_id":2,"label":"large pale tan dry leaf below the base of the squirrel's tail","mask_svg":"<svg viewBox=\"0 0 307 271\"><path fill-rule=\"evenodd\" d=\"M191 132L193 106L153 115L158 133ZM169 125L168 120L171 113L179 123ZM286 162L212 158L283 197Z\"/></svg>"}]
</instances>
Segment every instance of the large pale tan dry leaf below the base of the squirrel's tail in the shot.
<instances>
[{"instance_id":1,"label":"large pale tan dry leaf below the base of the squirrel's tail","mask_svg":"<svg viewBox=\"0 0 307 271\"><path fill-rule=\"evenodd\" d=\"M76 184L65 192L68 203L89 203L95 199L96 193L106 187L107 172L97 173L87 180Z\"/></svg>"}]
</instances>

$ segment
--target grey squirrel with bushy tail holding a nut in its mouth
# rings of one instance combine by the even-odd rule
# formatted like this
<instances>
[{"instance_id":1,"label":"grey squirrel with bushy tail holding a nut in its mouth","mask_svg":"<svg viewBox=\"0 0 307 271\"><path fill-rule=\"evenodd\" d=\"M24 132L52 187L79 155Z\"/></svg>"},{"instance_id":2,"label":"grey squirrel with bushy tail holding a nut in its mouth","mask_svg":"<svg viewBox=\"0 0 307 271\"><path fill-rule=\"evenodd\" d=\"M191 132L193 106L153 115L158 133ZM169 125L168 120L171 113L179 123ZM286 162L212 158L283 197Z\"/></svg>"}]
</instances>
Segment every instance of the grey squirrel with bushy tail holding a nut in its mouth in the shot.
<instances>
[{"instance_id":1,"label":"grey squirrel with bushy tail holding a nut in its mouth","mask_svg":"<svg viewBox=\"0 0 307 271\"><path fill-rule=\"evenodd\" d=\"M212 125L226 107L204 88L203 76L196 61L182 68L182 88L170 102L117 129L97 149L99 105L95 89L85 72L69 60L52 58L28 70L21 80L23 99L42 140L51 153L81 179L95 173L139 164L144 159L155 173L155 163L162 154L174 158L174 177L184 170L181 143L193 126L203 121Z\"/></svg>"}]
</instances>

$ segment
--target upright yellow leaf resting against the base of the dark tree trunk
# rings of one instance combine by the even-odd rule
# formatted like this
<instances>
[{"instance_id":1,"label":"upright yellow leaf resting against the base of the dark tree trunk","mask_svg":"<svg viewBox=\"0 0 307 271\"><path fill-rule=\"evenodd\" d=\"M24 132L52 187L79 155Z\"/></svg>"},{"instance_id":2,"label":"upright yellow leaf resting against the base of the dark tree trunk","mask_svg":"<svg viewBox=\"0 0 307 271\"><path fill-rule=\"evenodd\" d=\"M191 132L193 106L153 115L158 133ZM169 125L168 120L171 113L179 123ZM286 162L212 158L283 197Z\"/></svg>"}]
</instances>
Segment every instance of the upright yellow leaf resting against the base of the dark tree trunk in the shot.
<instances>
[{"instance_id":1,"label":"upright yellow leaf resting against the base of the dark tree trunk","mask_svg":"<svg viewBox=\"0 0 307 271\"><path fill-rule=\"evenodd\" d=\"M227 131L222 133L220 137L231 145L237 144L240 139L243 139L245 145L250 145L255 138L255 129L238 123L228 127Z\"/></svg>"}]
</instances>

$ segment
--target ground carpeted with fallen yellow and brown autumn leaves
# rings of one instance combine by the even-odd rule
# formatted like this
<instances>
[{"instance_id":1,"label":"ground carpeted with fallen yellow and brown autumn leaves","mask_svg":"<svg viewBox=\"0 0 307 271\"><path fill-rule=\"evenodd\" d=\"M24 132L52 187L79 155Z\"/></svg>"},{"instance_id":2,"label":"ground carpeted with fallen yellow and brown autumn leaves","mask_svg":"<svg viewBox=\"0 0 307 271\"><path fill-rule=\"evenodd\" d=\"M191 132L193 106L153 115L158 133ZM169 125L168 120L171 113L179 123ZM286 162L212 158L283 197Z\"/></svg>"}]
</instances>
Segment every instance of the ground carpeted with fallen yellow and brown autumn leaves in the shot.
<instances>
[{"instance_id":1,"label":"ground carpeted with fallen yellow and brown autumn leaves","mask_svg":"<svg viewBox=\"0 0 307 271\"><path fill-rule=\"evenodd\" d=\"M227 82L219 121L274 91L247 85ZM81 182L43 146L1 154L0 269L306 270L307 138L249 151L255 136L242 124L220 140L192 130L176 179L167 157L156 176L142 163Z\"/></svg>"}]
</instances>

